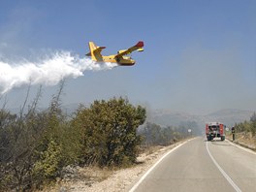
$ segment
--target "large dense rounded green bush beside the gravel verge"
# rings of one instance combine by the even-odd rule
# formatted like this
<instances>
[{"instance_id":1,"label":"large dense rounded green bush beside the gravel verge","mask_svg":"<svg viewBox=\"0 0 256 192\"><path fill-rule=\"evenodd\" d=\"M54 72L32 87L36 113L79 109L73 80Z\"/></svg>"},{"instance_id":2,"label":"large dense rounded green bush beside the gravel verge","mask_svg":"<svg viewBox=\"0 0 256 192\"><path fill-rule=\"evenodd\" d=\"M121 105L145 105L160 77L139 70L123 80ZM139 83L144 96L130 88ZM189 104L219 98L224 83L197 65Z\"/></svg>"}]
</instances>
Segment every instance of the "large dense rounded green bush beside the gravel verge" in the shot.
<instances>
[{"instance_id":1,"label":"large dense rounded green bush beside the gravel verge","mask_svg":"<svg viewBox=\"0 0 256 192\"><path fill-rule=\"evenodd\" d=\"M121 97L80 108L73 127L80 133L83 163L122 166L135 162L141 144L137 128L144 120L145 109Z\"/></svg>"}]
</instances>

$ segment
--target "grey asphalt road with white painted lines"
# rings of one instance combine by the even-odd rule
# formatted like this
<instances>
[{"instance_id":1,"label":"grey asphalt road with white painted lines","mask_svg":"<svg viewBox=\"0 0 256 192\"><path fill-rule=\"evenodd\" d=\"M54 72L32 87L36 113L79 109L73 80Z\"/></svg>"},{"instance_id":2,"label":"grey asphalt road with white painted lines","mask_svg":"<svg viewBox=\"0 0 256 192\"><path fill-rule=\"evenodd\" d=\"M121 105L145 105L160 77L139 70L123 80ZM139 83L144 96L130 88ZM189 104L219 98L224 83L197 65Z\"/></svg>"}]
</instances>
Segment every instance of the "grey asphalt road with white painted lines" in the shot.
<instances>
[{"instance_id":1,"label":"grey asphalt road with white painted lines","mask_svg":"<svg viewBox=\"0 0 256 192\"><path fill-rule=\"evenodd\" d=\"M228 141L196 138L182 144L130 192L256 191L256 154Z\"/></svg>"}]
</instances>

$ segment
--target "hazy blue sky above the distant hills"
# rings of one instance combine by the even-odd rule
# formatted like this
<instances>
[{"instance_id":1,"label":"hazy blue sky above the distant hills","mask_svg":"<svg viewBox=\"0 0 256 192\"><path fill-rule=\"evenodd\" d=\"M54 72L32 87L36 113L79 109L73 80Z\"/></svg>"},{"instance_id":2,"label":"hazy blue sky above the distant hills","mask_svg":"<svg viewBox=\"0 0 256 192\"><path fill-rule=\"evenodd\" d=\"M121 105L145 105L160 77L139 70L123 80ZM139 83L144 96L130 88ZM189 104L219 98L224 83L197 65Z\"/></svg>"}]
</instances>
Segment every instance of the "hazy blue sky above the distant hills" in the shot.
<instances>
[{"instance_id":1,"label":"hazy blue sky above the distant hills","mask_svg":"<svg viewBox=\"0 0 256 192\"><path fill-rule=\"evenodd\" d=\"M89 41L108 55L141 40L135 66L68 78L63 103L127 96L151 109L196 114L256 110L255 0L0 0L0 61L13 65L51 51L82 58ZM26 88L2 97L19 107ZM41 106L56 90L44 86Z\"/></svg>"}]
</instances>

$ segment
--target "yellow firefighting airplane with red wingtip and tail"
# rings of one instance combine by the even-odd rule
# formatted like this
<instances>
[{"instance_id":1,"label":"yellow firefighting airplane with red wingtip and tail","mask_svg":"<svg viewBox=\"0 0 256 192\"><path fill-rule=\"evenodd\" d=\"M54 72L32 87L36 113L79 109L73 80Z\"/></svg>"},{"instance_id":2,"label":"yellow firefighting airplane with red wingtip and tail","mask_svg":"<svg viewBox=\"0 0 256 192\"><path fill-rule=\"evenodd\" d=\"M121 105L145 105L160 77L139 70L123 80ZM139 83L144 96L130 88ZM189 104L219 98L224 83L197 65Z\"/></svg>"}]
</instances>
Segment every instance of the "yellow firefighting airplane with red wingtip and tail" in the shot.
<instances>
[{"instance_id":1,"label":"yellow firefighting airplane with red wingtip and tail","mask_svg":"<svg viewBox=\"0 0 256 192\"><path fill-rule=\"evenodd\" d=\"M91 59L98 62L111 62L117 63L118 65L131 66L135 64L135 60L131 58L131 56L127 56L127 54L132 53L134 50L144 51L144 42L138 42L134 47L118 50L117 54L112 54L109 56L103 56L101 51L106 47L97 47L93 42L89 42L90 52L86 54L86 56L91 56ZM126 55L126 56L124 56Z\"/></svg>"}]
</instances>

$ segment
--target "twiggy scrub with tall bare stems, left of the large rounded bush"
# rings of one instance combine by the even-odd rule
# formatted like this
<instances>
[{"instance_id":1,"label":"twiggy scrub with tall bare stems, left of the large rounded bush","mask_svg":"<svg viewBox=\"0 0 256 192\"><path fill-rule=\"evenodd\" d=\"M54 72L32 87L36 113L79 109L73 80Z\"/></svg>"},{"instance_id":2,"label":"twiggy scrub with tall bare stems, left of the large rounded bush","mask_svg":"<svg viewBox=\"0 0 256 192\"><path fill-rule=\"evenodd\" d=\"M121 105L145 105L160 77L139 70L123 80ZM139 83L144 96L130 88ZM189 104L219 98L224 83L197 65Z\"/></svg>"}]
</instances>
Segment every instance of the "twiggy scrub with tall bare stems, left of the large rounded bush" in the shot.
<instances>
[{"instance_id":1,"label":"twiggy scrub with tall bare stems, left of the large rounded bush","mask_svg":"<svg viewBox=\"0 0 256 192\"><path fill-rule=\"evenodd\" d=\"M77 160L77 135L59 107L62 88L44 112L37 112L41 87L29 106L28 89L18 114L0 110L0 191L39 187Z\"/></svg>"}]
</instances>

